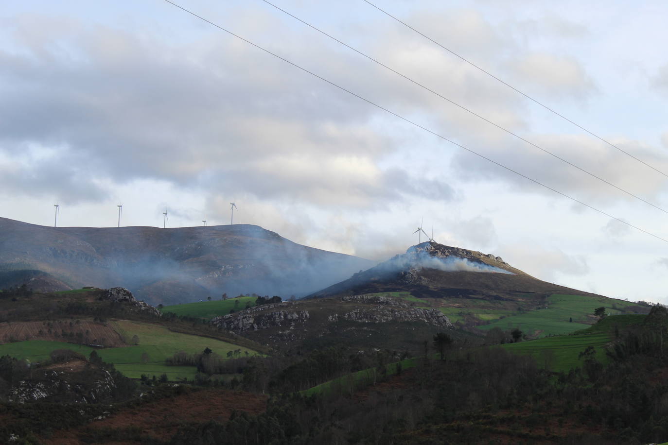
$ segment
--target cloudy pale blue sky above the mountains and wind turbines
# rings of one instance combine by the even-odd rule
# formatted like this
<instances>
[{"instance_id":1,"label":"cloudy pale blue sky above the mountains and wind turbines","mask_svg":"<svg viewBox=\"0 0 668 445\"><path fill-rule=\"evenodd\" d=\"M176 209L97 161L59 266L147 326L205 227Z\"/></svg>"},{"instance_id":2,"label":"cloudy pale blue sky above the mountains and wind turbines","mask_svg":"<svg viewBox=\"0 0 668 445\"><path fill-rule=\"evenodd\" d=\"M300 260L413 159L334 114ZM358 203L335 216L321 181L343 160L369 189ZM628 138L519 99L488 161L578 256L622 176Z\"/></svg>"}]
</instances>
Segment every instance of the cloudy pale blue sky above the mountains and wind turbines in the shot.
<instances>
[{"instance_id":1,"label":"cloudy pale blue sky above the mountains and wind turbines","mask_svg":"<svg viewBox=\"0 0 668 445\"><path fill-rule=\"evenodd\" d=\"M122 226L212 226L235 201L235 223L372 260L422 224L541 280L668 303L668 3L371 0L656 171L363 0L272 2L656 207L266 1L174 3L327 81L164 0L3 5L0 216L53 226L59 203L58 226L110 227L122 204Z\"/></svg>"}]
</instances>

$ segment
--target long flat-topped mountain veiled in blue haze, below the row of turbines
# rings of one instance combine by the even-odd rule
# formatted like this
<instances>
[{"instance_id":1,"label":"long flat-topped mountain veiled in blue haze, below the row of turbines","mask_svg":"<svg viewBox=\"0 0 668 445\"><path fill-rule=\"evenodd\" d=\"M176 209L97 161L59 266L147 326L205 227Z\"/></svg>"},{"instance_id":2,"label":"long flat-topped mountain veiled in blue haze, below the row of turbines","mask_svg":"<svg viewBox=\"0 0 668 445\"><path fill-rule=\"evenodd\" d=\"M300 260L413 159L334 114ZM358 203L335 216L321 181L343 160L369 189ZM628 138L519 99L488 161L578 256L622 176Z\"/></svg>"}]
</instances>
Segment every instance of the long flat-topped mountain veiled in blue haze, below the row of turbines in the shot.
<instances>
[{"instance_id":1,"label":"long flat-topped mountain veiled in blue haze, below the row of turbines","mask_svg":"<svg viewBox=\"0 0 668 445\"><path fill-rule=\"evenodd\" d=\"M122 286L154 304L246 293L298 298L375 262L291 242L259 226L51 228L0 218L0 279ZM33 272L30 272L33 271ZM45 278L43 278L45 280Z\"/></svg>"}]
</instances>

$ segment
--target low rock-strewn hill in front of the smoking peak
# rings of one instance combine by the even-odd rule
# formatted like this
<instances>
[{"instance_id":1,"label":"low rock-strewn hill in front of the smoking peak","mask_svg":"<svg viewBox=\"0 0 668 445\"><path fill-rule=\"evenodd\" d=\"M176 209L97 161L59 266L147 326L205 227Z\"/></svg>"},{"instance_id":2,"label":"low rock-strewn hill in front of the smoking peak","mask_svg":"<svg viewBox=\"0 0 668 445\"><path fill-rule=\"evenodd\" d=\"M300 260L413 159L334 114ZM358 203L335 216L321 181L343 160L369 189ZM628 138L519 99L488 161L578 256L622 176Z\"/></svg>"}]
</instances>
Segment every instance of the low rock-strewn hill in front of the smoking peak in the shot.
<instances>
[{"instance_id":1,"label":"low rock-strewn hill in front of the smoking peak","mask_svg":"<svg viewBox=\"0 0 668 445\"><path fill-rule=\"evenodd\" d=\"M211 323L277 350L337 346L413 353L422 348L422 339L453 328L439 310L375 295L265 304Z\"/></svg>"}]
</instances>

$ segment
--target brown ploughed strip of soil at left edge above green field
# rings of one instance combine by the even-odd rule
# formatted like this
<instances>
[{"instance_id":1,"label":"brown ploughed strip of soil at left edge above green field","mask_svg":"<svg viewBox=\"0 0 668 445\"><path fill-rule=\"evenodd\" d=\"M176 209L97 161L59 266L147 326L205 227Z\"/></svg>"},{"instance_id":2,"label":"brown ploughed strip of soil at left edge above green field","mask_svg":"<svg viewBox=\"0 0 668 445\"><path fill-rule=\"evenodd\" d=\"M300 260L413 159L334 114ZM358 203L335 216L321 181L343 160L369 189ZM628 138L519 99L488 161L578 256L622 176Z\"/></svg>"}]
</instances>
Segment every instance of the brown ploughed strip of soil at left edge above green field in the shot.
<instances>
[{"instance_id":1,"label":"brown ploughed strip of soil at left edge above green field","mask_svg":"<svg viewBox=\"0 0 668 445\"><path fill-rule=\"evenodd\" d=\"M114 328L92 319L0 323L0 344L23 340L126 346L126 342Z\"/></svg>"}]
</instances>

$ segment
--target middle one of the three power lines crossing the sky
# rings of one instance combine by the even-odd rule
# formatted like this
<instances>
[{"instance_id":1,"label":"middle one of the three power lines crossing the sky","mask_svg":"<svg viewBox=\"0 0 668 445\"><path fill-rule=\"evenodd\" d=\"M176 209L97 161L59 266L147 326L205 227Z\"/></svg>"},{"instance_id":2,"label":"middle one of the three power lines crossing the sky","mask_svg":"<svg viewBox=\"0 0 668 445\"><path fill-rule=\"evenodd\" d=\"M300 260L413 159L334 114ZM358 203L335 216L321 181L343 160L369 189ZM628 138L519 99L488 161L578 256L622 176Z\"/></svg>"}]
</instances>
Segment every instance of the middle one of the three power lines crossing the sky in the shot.
<instances>
[{"instance_id":1,"label":"middle one of the three power lines crossing the sky","mask_svg":"<svg viewBox=\"0 0 668 445\"><path fill-rule=\"evenodd\" d=\"M308 27L311 27L311 29L315 29L315 31L318 31L319 33L321 33L321 34L323 34L323 35L329 37L330 39L332 39L332 40L334 40L334 41L336 41L336 42L338 42L338 43L341 43L341 45L343 45L343 46L345 46L345 47L347 47L347 48L349 48L349 49L355 51L356 53L358 53L359 55L362 55L363 57L366 57L366 58L369 59L370 61L373 61L374 63L377 63L377 64L380 65L381 67L383 67L383 68L385 68L385 69L388 69L389 71L392 71L392 72L395 73L396 75L399 75L399 76L403 77L403 78L406 79L407 81L411 81L411 82L414 83L415 85L418 85L419 87L422 87L423 89L426 89L427 91L429 91L430 93L433 93L434 95L437 95L437 96L440 97L441 99L444 99L444 100L446 100L446 101L452 103L452 105L455 105L456 107L459 107L460 109L463 109L464 111L467 111L468 113L471 113L472 115L478 117L479 119L482 119L483 121L485 121L485 122L487 122L487 123L490 123L491 125L494 125L494 127L497 127L498 129L500 129L500 130L502 130L502 131L505 131L506 133L508 133L508 134L510 134L510 135L512 135L512 136L514 136L514 137L516 137L517 139L520 139L520 141L524 141L524 142L528 143L529 145L531 145L532 147L535 147L535 148L539 149L540 151L542 151L542 152L544 152L544 153L546 153L546 154L548 154L548 155L550 155L550 156L552 156L552 157L554 157L554 158L556 158L556 159L559 159L560 161L562 161L562 162L564 162L564 163L570 165L571 167L574 167L574 168L576 168L576 169L582 171L583 173L587 173L587 175L590 175L591 177L594 177L595 179L598 179L599 181L601 181L601 182L603 182L603 183L606 183L607 185L610 185L611 187L615 187L615 189L617 189L617 190L619 190L619 191L622 191L623 193L626 193L627 195L629 195L629 196L631 196L631 197L634 197L635 199L639 199L639 201L643 201L643 202L646 203L647 205L651 205L651 206L654 207L655 209L658 209L658 210L663 211L663 213L667 213L667 214L668 214L668 210L665 210L665 209L663 209L662 207L659 207L659 205L656 205L656 204L654 204L654 203L651 203L651 202L647 201L646 199L643 199L642 197L639 197L638 195L635 195L634 193L631 193L631 191L627 191L626 189L623 189L622 187L619 187L618 185L615 185L615 184L611 183L610 181L607 181L606 179L603 179L602 177L596 175L595 173L591 173L591 171L588 171L588 170L586 170L586 169L584 169L584 168L582 168L582 167L579 167L578 165L576 165L576 164L574 164L574 163L568 161L567 159L564 159L564 158L560 157L559 155L556 155L556 154L552 153L552 151L549 151L549 150L547 150L547 149L544 149L544 148L540 147L539 145L537 145L536 143L533 143L532 141L529 141L528 139L525 139L524 137L518 135L517 133L514 133L513 131L510 131L509 129L506 129L505 127L502 127L501 125L498 125L498 123L495 123L495 122L493 122L493 121L490 121L490 119L487 119L486 117L483 117L482 115L476 113L475 111L472 111L472 110L470 110L470 109L464 107L464 105L460 105L459 103L456 103L456 102L453 101L452 99L448 99L448 97L445 97L444 95L441 95L440 93L434 91L434 90L431 89L430 87L427 87L427 86L423 85L422 83L420 83L420 82L418 82L418 81L415 81L415 80L411 79L410 77L407 77L406 75L403 75L402 73L399 73L399 71L396 71L395 69L393 69L393 68L391 68L391 67L385 65L385 64L382 63L381 61L378 61L377 59L374 59L373 57L371 57L371 56L369 56L369 55L363 53L362 51L359 51L358 49L355 49L354 47L351 47L351 45L348 45L347 43L345 43L345 42L343 42L343 41L337 39L336 37L333 37L332 35L326 33L325 31L323 31L323 30L321 30L321 29L315 27L314 25L311 25L311 23L307 23L306 21L303 21L302 19L300 19L299 17L297 17L297 16L295 16L295 15L289 13L289 12L286 11L285 9L282 9L281 7L278 7L277 5L271 3L271 1L269 1L269 0L262 0L262 1L264 1L265 3L267 3L267 5L271 5L271 6L275 7L275 8L278 9L279 11L281 11L281 12L283 12L283 13L289 15L290 17L292 17L293 19L295 19L295 20L297 20L297 21L303 23L304 25L307 25Z\"/></svg>"}]
</instances>

